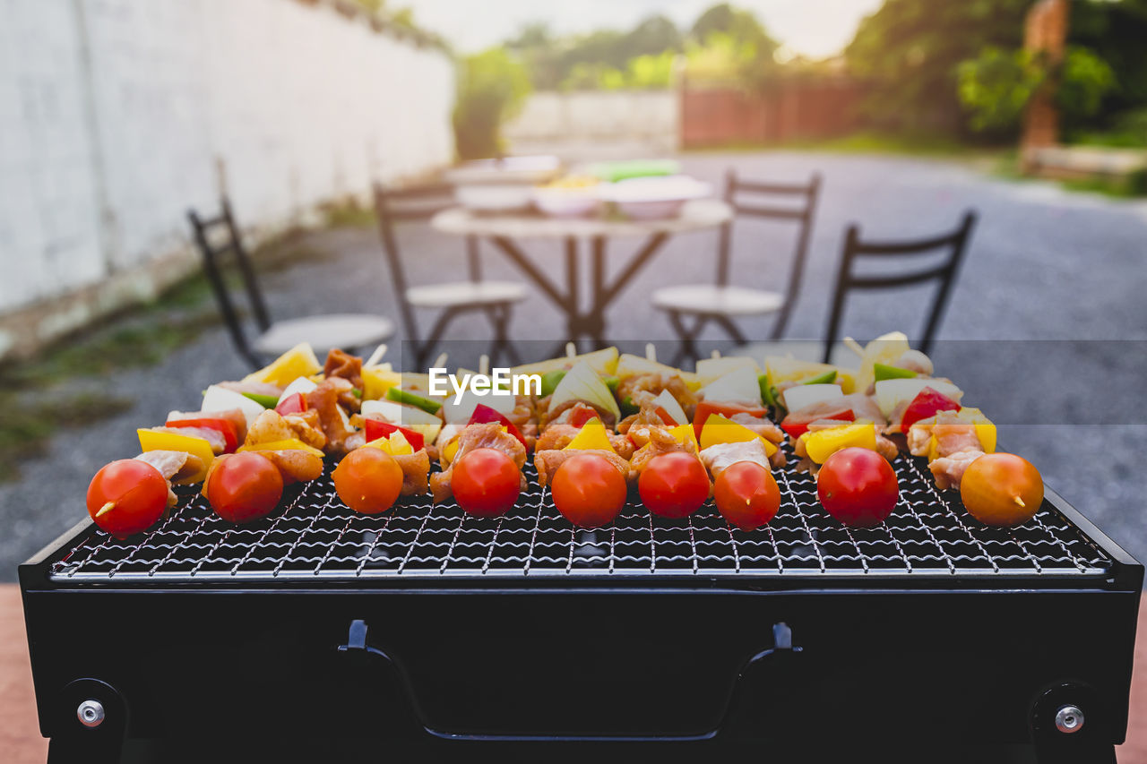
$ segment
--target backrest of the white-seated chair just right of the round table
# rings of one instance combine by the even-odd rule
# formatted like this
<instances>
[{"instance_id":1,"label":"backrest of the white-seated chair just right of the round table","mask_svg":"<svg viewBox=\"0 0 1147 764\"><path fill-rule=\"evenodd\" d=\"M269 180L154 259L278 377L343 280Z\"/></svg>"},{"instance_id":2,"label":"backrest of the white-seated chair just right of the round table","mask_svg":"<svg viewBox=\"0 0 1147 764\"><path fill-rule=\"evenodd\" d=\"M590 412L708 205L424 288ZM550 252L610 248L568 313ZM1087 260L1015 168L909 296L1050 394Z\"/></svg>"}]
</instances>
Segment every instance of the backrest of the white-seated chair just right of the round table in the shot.
<instances>
[{"instance_id":1,"label":"backrest of the white-seated chair just right of the round table","mask_svg":"<svg viewBox=\"0 0 1147 764\"><path fill-rule=\"evenodd\" d=\"M817 210L817 200L820 196L820 184L819 172L813 173L807 184L743 180L732 167L725 176L725 202L733 208L734 219L755 217L793 220L799 226L793 252L793 265L789 270L788 287L785 290L785 304L773 325L773 340L778 340L785 334L785 327L793 312L793 304L801 293L804 263L809 255L809 237L812 233L812 218ZM765 197L770 201L764 201ZM782 200L789 200L789 202L782 203ZM732 220L721 226L720 242L717 248L717 283L721 287L728 283L731 240Z\"/></svg>"}]
</instances>

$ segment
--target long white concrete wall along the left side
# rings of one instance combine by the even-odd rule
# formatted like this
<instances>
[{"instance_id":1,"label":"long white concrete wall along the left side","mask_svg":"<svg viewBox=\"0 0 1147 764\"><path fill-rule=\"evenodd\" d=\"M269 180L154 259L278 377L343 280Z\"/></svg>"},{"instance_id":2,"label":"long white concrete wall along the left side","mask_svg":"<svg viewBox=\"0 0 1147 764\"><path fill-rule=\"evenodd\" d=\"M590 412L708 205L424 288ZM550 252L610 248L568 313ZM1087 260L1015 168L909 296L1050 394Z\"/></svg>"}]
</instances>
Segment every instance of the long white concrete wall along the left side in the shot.
<instances>
[{"instance_id":1,"label":"long white concrete wall along the left side","mask_svg":"<svg viewBox=\"0 0 1147 764\"><path fill-rule=\"evenodd\" d=\"M244 224L447 164L453 68L298 0L0 0L0 358L195 266Z\"/></svg>"}]
</instances>

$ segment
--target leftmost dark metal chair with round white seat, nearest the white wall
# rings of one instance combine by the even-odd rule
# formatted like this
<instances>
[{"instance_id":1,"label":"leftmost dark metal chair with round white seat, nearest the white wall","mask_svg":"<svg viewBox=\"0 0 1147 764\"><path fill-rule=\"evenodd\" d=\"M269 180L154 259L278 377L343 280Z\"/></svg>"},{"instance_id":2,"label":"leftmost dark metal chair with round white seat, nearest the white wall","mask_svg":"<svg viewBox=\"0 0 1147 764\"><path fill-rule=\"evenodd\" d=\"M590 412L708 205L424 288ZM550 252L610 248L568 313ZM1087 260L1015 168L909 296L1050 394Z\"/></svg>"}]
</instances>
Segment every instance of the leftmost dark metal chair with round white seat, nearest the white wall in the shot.
<instances>
[{"instance_id":1,"label":"leftmost dark metal chair with round white seat, nearest the white wall","mask_svg":"<svg viewBox=\"0 0 1147 764\"><path fill-rule=\"evenodd\" d=\"M188 210L187 217L192 221L195 243L203 256L203 270L219 302L227 332L235 349L253 368L259 368L267 360L302 342L311 343L321 358L336 348L350 351L377 345L395 334L393 321L368 313L333 313L272 321L227 197L221 200L220 206L220 213L213 218L203 218L195 210ZM220 243L212 242L214 231L223 231ZM224 279L223 259L227 254L234 256L250 303L251 315L258 329L258 336L253 340L249 340L243 329L239 310Z\"/></svg>"}]
</instances>

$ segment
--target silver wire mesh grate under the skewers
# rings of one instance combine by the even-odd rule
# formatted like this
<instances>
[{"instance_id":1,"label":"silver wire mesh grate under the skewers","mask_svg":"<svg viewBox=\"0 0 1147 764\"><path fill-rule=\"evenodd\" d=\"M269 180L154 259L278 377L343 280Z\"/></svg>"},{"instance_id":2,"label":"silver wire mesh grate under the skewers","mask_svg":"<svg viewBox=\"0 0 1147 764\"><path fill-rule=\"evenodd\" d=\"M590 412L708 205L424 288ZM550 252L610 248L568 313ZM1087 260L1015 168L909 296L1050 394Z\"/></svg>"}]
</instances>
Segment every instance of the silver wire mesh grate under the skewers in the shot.
<instances>
[{"instance_id":1,"label":"silver wire mesh grate under the skewers","mask_svg":"<svg viewBox=\"0 0 1147 764\"><path fill-rule=\"evenodd\" d=\"M284 580L395 576L998 576L1106 575L1111 560L1045 502L1017 529L969 517L958 494L937 491L926 467L897 460L900 501L873 529L846 529L817 500L816 480L777 470L781 509L765 528L731 529L708 504L670 521L630 504L595 531L574 529L528 467L530 489L504 517L475 519L429 497L359 515L329 475L284 497L274 517L235 527L186 491L146 536L119 540L93 529L52 566L55 580Z\"/></svg>"}]
</instances>

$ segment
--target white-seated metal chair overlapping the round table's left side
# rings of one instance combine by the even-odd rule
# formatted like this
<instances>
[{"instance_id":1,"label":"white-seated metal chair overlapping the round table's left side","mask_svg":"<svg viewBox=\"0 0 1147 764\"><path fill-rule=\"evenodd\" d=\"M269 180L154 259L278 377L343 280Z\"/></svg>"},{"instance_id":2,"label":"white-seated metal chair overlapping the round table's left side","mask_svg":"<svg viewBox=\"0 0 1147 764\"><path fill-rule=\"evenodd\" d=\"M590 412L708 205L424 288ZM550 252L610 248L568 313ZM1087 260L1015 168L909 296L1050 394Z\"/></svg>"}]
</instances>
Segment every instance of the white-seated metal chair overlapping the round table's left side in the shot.
<instances>
[{"instance_id":1,"label":"white-seated metal chair overlapping the round table's left side","mask_svg":"<svg viewBox=\"0 0 1147 764\"><path fill-rule=\"evenodd\" d=\"M484 313L493 327L490 358L505 357L510 364L521 362L509 341L509 320L515 303L529 297L529 290L516 281L487 281L482 278L478 240L466 237L467 273L469 280L412 287L398 251L395 225L403 220L428 220L439 210L454 204L452 186L432 185L413 188L387 188L374 185L374 205L379 216L379 235L387 254L390 274L395 282L399 312L406 326L408 341L414 348L418 368L426 366L430 352L443 338L454 319L466 313ZM437 320L426 340L419 338L416 310L439 310Z\"/></svg>"}]
</instances>

